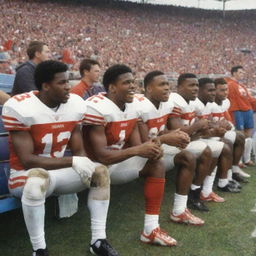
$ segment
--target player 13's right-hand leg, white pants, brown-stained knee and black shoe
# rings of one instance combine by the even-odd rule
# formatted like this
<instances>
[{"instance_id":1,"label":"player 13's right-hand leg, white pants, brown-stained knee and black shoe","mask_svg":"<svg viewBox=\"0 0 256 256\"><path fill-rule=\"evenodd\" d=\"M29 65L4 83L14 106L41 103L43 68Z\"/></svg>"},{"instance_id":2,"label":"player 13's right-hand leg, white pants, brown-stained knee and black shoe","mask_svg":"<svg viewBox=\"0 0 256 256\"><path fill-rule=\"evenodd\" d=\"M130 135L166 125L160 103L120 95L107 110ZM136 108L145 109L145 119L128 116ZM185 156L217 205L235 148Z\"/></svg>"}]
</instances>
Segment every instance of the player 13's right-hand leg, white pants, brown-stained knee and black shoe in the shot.
<instances>
[{"instance_id":1,"label":"player 13's right-hand leg, white pants, brown-stained knee and black shoe","mask_svg":"<svg viewBox=\"0 0 256 256\"><path fill-rule=\"evenodd\" d=\"M81 182L80 176L72 168L51 171L50 175L55 182L55 194L79 192L88 186ZM92 239L90 251L96 255L117 256L118 253L106 240L109 199L109 171L105 166L97 164L91 178L87 204L91 215Z\"/></svg>"}]
</instances>

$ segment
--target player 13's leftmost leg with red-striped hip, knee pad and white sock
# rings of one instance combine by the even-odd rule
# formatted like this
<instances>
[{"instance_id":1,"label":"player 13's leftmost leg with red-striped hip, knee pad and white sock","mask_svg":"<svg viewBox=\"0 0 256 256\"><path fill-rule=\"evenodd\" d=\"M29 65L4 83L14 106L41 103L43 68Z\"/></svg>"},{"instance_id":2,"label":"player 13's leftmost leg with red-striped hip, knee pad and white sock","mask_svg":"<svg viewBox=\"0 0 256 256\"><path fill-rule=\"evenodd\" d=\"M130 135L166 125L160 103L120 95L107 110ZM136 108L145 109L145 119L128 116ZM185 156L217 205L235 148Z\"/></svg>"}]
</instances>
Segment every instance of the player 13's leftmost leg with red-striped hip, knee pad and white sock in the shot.
<instances>
[{"instance_id":1,"label":"player 13's leftmost leg with red-striped hip, knee pad and white sock","mask_svg":"<svg viewBox=\"0 0 256 256\"><path fill-rule=\"evenodd\" d=\"M50 178L47 171L34 168L28 171L11 171L10 192L21 197L25 224L33 248L33 255L47 256L44 236L45 198Z\"/></svg>"}]
</instances>

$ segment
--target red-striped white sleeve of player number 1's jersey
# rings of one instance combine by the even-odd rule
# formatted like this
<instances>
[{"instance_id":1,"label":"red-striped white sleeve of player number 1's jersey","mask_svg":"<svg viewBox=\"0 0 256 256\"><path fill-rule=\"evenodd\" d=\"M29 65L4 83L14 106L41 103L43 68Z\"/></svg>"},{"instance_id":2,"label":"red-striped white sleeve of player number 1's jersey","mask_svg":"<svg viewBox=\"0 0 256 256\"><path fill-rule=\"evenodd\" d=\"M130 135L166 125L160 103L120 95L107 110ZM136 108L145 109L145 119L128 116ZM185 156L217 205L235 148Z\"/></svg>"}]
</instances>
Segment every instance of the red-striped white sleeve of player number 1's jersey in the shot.
<instances>
[{"instance_id":1,"label":"red-striped white sleeve of player number 1's jersey","mask_svg":"<svg viewBox=\"0 0 256 256\"><path fill-rule=\"evenodd\" d=\"M104 115L101 114L97 109L93 106L87 104L86 113L84 115L83 123L85 125L106 125L106 120Z\"/></svg>"}]
</instances>

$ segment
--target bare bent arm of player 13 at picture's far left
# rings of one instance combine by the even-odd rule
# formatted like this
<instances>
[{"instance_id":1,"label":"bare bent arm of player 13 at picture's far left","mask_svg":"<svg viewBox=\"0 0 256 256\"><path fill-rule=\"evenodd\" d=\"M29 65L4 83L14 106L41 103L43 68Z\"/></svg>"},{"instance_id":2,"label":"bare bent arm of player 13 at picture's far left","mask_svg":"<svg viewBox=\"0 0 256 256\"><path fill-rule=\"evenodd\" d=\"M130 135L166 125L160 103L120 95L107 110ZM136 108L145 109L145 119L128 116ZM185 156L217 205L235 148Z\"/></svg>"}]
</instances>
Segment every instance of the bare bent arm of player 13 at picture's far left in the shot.
<instances>
[{"instance_id":1,"label":"bare bent arm of player 13 at picture's far left","mask_svg":"<svg viewBox=\"0 0 256 256\"><path fill-rule=\"evenodd\" d=\"M10 131L14 151L25 169L40 167L46 170L72 166L72 157L50 158L34 154L34 141L28 131Z\"/></svg>"}]
</instances>

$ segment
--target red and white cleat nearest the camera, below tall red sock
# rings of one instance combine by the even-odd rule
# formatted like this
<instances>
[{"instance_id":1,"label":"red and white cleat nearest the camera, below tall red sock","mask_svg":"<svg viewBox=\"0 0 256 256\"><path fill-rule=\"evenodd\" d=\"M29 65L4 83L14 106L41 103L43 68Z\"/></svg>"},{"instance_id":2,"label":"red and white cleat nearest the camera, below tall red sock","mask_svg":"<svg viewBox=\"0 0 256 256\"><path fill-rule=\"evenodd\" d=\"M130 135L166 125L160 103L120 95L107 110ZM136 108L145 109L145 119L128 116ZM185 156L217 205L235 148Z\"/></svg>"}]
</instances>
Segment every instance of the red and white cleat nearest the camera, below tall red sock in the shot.
<instances>
[{"instance_id":1,"label":"red and white cleat nearest the camera, below tall red sock","mask_svg":"<svg viewBox=\"0 0 256 256\"><path fill-rule=\"evenodd\" d=\"M161 246L175 246L177 244L177 241L170 237L166 232L162 231L160 227L155 228L150 235L142 233L140 240L143 243Z\"/></svg>"}]
</instances>

